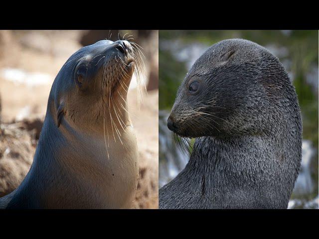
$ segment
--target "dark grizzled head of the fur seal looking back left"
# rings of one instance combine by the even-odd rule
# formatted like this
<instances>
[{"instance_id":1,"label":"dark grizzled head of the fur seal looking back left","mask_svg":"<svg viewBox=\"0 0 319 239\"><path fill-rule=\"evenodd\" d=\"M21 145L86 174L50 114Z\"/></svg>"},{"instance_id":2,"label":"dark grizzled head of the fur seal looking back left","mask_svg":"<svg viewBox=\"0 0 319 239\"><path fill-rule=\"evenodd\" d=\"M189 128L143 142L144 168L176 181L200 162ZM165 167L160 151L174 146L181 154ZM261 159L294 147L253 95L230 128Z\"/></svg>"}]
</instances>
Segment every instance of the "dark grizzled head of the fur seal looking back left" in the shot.
<instances>
[{"instance_id":1,"label":"dark grizzled head of the fur seal looking back left","mask_svg":"<svg viewBox=\"0 0 319 239\"><path fill-rule=\"evenodd\" d=\"M296 129L298 115L295 89L278 58L254 42L229 39L193 64L167 126L185 137L259 135L291 119Z\"/></svg>"}]
</instances>

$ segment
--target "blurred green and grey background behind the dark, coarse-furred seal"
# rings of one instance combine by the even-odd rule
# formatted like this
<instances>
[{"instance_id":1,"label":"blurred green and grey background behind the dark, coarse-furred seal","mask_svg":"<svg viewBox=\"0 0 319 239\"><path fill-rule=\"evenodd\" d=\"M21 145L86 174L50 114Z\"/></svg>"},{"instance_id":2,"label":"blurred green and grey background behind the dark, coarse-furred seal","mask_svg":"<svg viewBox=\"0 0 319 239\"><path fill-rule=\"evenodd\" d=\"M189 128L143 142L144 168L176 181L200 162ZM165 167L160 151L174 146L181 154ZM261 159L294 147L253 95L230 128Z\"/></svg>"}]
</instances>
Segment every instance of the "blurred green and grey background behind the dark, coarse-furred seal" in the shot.
<instances>
[{"instance_id":1,"label":"blurred green and grey background behind the dark, coarse-furred seal","mask_svg":"<svg viewBox=\"0 0 319 239\"><path fill-rule=\"evenodd\" d=\"M229 38L254 41L284 64L296 87L303 117L303 159L289 208L318 209L318 30L160 30L160 187L186 165L166 126L178 86L212 44Z\"/></svg>"}]
</instances>

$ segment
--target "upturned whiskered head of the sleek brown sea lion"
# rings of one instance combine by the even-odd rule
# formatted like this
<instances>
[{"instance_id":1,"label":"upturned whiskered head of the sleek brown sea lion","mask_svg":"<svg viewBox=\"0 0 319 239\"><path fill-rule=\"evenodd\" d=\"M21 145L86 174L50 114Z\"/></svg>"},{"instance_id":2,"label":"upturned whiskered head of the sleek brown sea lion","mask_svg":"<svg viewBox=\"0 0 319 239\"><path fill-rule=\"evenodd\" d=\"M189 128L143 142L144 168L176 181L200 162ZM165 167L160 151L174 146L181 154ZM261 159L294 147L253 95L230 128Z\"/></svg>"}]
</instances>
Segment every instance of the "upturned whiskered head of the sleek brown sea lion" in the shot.
<instances>
[{"instance_id":1,"label":"upturned whiskered head of the sleek brown sea lion","mask_svg":"<svg viewBox=\"0 0 319 239\"><path fill-rule=\"evenodd\" d=\"M57 127L63 119L95 131L101 131L105 121L123 127L129 120L127 91L133 73L139 81L143 71L141 51L133 42L101 40L82 47L63 65L52 85L50 112Z\"/></svg>"}]
</instances>

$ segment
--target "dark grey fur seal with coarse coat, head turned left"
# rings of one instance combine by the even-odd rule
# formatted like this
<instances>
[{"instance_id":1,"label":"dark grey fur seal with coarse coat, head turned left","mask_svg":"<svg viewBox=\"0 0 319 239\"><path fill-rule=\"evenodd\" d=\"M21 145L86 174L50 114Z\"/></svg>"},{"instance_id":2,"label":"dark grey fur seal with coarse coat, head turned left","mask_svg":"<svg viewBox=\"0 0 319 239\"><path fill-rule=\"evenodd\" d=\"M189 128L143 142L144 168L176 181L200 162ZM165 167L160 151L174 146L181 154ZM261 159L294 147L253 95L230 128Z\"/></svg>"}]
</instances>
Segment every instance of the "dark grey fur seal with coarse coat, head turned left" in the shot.
<instances>
[{"instance_id":1,"label":"dark grey fur seal with coarse coat, head turned left","mask_svg":"<svg viewBox=\"0 0 319 239\"><path fill-rule=\"evenodd\" d=\"M203 53L181 83L167 126L195 137L160 209L287 209L302 158L302 119L279 59L243 39Z\"/></svg>"}]
</instances>

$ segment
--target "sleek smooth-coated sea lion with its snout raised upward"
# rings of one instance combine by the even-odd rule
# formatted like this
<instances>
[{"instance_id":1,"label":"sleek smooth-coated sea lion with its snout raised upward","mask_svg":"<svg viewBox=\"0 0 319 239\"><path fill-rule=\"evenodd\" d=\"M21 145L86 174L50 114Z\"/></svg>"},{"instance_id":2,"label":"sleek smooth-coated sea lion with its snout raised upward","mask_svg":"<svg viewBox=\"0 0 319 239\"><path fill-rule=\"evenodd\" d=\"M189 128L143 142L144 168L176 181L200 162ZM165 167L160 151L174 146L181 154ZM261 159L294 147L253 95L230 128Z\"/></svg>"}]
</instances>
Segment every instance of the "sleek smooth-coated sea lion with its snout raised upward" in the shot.
<instances>
[{"instance_id":1,"label":"sleek smooth-coated sea lion with its snout raised upward","mask_svg":"<svg viewBox=\"0 0 319 239\"><path fill-rule=\"evenodd\" d=\"M75 52L57 74L33 163L6 209L130 208L138 183L137 139L127 91L143 61L126 40Z\"/></svg>"}]
</instances>

